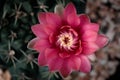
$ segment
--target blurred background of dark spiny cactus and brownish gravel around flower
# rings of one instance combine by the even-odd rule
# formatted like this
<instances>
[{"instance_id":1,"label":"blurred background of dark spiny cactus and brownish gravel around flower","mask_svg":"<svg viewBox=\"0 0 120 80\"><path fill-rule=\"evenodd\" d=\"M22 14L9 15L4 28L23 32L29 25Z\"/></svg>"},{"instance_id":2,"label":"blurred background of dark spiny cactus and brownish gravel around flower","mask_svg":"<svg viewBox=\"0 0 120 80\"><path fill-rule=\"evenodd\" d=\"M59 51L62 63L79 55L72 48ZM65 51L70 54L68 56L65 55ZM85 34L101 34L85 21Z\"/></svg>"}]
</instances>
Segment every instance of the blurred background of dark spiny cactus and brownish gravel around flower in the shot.
<instances>
[{"instance_id":1,"label":"blurred background of dark spiny cactus and brownish gravel around flower","mask_svg":"<svg viewBox=\"0 0 120 80\"><path fill-rule=\"evenodd\" d=\"M110 39L96 52L90 73L73 72L65 80L120 80L120 0L0 0L0 80L62 80L38 66L38 53L27 49L38 12L53 12L59 2L73 2Z\"/></svg>"}]
</instances>

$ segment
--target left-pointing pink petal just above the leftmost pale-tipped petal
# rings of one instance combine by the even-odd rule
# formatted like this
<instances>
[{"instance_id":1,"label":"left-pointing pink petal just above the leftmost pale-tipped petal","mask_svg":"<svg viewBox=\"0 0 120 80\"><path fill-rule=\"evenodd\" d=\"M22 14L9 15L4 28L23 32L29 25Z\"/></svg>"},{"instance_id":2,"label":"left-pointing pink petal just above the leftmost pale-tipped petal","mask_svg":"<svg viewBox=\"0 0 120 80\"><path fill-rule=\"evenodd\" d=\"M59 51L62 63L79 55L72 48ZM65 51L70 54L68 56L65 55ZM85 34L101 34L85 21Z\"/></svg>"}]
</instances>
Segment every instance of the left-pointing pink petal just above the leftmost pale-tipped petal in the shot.
<instances>
[{"instance_id":1,"label":"left-pointing pink petal just above the leftmost pale-tipped petal","mask_svg":"<svg viewBox=\"0 0 120 80\"><path fill-rule=\"evenodd\" d=\"M36 24L36 25L32 26L32 31L39 38L47 38L48 35L44 31L44 27L45 27L45 25Z\"/></svg>"}]
</instances>

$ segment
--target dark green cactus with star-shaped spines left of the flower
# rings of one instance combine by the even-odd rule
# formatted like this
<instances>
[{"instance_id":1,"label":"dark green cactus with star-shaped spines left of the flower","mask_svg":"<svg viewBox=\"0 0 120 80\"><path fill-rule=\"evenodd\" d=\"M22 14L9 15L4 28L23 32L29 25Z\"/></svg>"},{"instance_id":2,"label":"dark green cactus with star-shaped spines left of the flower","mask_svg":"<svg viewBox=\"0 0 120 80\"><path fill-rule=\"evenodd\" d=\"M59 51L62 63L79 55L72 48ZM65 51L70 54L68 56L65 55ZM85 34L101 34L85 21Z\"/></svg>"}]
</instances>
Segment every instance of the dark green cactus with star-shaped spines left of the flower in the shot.
<instances>
[{"instance_id":1,"label":"dark green cactus with star-shaped spines left of the flower","mask_svg":"<svg viewBox=\"0 0 120 80\"><path fill-rule=\"evenodd\" d=\"M38 23L38 12L54 11L59 2L64 0L0 1L0 70L6 68L12 80L61 79L58 73L38 66L38 53L27 49L28 41L35 37L31 25Z\"/></svg>"}]
</instances>

